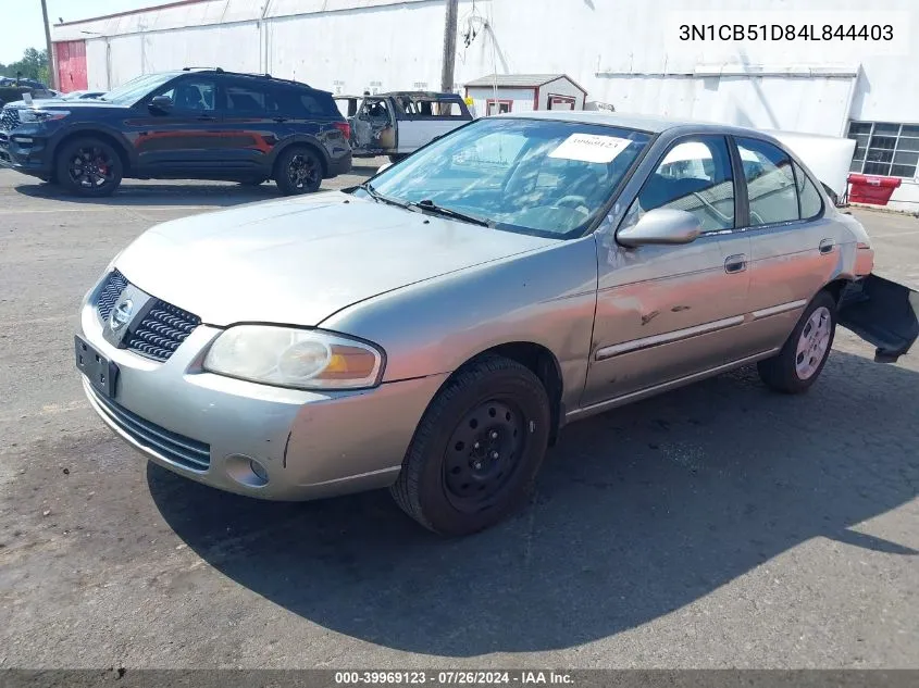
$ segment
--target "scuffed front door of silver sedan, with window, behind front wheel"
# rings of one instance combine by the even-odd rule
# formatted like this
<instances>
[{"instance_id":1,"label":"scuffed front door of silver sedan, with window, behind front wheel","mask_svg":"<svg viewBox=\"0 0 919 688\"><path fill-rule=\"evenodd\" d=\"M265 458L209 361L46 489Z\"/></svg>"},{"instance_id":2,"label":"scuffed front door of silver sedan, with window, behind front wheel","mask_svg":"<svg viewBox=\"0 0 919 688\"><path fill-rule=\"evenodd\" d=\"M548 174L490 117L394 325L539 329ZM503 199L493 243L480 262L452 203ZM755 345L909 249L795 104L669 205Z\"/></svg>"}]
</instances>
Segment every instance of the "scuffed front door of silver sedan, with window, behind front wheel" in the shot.
<instances>
[{"instance_id":1,"label":"scuffed front door of silver sedan, with window, behind front wheel","mask_svg":"<svg viewBox=\"0 0 919 688\"><path fill-rule=\"evenodd\" d=\"M735 225L735 172L721 136L678 139L645 182L622 226L646 211L694 214L704 234L684 246L599 237L597 312L582 405L717 368L743 358L749 239Z\"/></svg>"}]
</instances>

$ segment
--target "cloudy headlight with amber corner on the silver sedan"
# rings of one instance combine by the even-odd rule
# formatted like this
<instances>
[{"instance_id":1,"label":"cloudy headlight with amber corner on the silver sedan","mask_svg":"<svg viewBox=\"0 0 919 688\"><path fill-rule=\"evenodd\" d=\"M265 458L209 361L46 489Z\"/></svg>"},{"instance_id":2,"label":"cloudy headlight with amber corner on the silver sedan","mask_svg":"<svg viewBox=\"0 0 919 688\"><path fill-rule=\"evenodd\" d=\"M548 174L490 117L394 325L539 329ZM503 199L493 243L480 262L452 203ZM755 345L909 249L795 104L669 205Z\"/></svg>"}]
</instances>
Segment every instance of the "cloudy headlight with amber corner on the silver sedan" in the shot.
<instances>
[{"instance_id":1,"label":"cloudy headlight with amber corner on the silver sedan","mask_svg":"<svg viewBox=\"0 0 919 688\"><path fill-rule=\"evenodd\" d=\"M204 370L278 387L360 389L380 384L383 352L331 333L237 325L216 338Z\"/></svg>"}]
</instances>

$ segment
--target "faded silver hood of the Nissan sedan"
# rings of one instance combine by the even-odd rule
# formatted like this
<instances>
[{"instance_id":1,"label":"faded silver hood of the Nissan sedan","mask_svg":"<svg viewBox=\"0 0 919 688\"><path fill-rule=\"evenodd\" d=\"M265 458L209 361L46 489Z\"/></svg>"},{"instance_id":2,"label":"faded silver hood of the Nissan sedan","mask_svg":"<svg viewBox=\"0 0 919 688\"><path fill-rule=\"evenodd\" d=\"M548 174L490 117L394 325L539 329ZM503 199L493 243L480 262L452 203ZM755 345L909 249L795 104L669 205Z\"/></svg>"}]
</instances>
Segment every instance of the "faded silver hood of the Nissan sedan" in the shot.
<instances>
[{"instance_id":1,"label":"faded silver hood of the Nissan sedan","mask_svg":"<svg viewBox=\"0 0 919 688\"><path fill-rule=\"evenodd\" d=\"M556 241L328 191L163 223L115 266L207 324L314 326L358 301Z\"/></svg>"}]
</instances>

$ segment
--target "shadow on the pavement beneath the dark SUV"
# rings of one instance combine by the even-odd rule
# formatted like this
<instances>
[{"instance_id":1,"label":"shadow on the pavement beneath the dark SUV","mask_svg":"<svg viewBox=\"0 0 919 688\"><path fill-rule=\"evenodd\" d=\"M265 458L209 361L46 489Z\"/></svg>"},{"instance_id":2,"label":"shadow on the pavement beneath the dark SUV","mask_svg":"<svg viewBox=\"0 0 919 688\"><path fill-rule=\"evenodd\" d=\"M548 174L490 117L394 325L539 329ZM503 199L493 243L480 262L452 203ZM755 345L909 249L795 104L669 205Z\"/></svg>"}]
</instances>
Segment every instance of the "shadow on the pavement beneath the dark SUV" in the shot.
<instances>
[{"instance_id":1,"label":"shadow on the pavement beneath the dark SUV","mask_svg":"<svg viewBox=\"0 0 919 688\"><path fill-rule=\"evenodd\" d=\"M214 205L225 208L282 198L277 187L271 183L259 186L244 186L232 182L211 184L123 183L112 196L101 198L72 196L62 191L57 185L42 182L18 184L14 188L16 192L30 198L108 207Z\"/></svg>"}]
</instances>

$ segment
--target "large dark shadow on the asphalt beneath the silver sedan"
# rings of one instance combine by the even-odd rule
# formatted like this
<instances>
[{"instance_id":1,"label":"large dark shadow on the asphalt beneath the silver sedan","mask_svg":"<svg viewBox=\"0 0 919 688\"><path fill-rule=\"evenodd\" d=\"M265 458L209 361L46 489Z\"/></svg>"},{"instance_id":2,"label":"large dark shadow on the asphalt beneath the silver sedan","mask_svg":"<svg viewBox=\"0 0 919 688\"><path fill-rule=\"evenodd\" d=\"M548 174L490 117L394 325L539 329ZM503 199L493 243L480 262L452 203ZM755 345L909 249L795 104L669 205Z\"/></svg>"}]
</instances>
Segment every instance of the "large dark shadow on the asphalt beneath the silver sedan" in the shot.
<instances>
[{"instance_id":1,"label":"large dark shadow on the asphalt beneath the silver sedan","mask_svg":"<svg viewBox=\"0 0 919 688\"><path fill-rule=\"evenodd\" d=\"M804 396L745 368L611 411L566 428L522 513L457 540L386 492L270 503L154 464L147 477L203 560L326 628L448 656L562 649L812 538L916 555L855 527L917 496L917 388L912 371L836 351Z\"/></svg>"}]
</instances>

